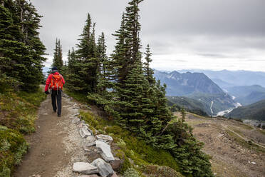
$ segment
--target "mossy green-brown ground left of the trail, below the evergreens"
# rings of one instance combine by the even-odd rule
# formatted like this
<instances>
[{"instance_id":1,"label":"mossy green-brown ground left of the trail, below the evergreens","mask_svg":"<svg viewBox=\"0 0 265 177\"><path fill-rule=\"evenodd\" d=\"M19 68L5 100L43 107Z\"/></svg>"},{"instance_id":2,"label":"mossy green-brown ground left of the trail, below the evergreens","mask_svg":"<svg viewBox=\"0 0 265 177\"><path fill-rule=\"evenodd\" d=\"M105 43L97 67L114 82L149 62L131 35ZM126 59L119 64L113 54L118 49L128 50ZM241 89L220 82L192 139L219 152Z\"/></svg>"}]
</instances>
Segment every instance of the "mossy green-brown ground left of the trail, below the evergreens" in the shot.
<instances>
[{"instance_id":1,"label":"mossy green-brown ground left of the trail, below the evergreens","mask_svg":"<svg viewBox=\"0 0 265 177\"><path fill-rule=\"evenodd\" d=\"M38 106L45 98L41 89L36 93L0 93L0 176L10 176L26 153L23 135L35 131Z\"/></svg>"}]
</instances>

